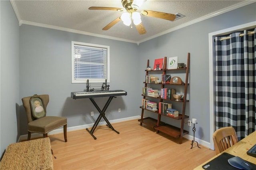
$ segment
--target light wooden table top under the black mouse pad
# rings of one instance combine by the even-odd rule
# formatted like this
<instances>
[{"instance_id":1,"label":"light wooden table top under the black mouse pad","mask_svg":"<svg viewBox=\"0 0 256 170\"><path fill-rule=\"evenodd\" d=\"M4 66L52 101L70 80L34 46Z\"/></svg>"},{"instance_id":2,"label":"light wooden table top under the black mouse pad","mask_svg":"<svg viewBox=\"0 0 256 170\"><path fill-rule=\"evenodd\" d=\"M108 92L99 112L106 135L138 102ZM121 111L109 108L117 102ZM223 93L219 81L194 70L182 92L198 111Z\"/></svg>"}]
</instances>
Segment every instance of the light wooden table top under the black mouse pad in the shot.
<instances>
[{"instance_id":1,"label":"light wooden table top under the black mouse pad","mask_svg":"<svg viewBox=\"0 0 256 170\"><path fill-rule=\"evenodd\" d=\"M240 158L242 158L248 162L252 162L252 163L256 164L256 157L249 156L246 153L250 148L252 148L252 146L254 146L254 144L256 144L256 131L254 131L250 135L246 136L246 138L243 138L242 140L240 140L239 142L237 142L230 148L224 150L223 152L232 154L234 156L239 156ZM194 170L203 170L202 166L204 164L213 160L214 158L216 158L223 152L220 152L218 155L216 155L216 156L212 157L211 159L207 160L206 162L202 163L198 167L194 168Z\"/></svg>"}]
</instances>

